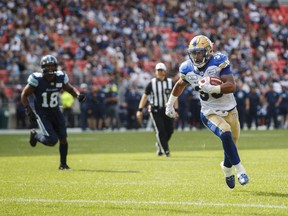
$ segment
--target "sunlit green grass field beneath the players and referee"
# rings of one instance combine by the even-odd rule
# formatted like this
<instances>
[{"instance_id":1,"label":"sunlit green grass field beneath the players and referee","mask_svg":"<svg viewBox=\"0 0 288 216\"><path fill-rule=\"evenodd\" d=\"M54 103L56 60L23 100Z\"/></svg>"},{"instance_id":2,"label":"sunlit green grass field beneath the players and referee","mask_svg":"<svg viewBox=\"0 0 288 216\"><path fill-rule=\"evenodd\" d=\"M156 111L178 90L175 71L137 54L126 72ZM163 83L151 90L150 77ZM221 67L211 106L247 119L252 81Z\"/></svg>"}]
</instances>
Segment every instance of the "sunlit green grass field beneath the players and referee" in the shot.
<instances>
[{"instance_id":1,"label":"sunlit green grass field beneath the players and referee","mask_svg":"<svg viewBox=\"0 0 288 216\"><path fill-rule=\"evenodd\" d=\"M171 157L155 154L153 132L69 134L58 146L0 135L0 215L288 215L288 131L243 131L239 154L250 182L229 189L220 140L178 132Z\"/></svg>"}]
</instances>

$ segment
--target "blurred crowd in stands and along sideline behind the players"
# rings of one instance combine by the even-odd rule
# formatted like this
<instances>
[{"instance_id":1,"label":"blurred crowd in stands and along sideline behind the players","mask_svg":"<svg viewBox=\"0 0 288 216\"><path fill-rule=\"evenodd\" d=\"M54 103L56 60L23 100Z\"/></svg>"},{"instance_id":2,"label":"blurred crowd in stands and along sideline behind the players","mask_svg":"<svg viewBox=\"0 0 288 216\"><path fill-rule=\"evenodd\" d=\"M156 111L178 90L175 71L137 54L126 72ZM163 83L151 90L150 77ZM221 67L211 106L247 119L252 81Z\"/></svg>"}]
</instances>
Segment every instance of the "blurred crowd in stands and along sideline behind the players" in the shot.
<instances>
[{"instance_id":1,"label":"blurred crowd in stands and along sideline behind the players","mask_svg":"<svg viewBox=\"0 0 288 216\"><path fill-rule=\"evenodd\" d=\"M71 83L89 96L78 105L78 125L71 117L76 102L69 103L71 127L149 126L149 119L138 125L134 112L155 64L165 62L178 79L189 41L204 34L214 50L229 56L241 125L287 127L287 13L288 5L277 0L1 1L0 105L15 102L16 112L23 112L21 88L29 74L40 71L41 56L52 54ZM175 126L201 128L197 93L186 91ZM65 110L65 99L62 103ZM17 122L18 128L26 127Z\"/></svg>"}]
</instances>

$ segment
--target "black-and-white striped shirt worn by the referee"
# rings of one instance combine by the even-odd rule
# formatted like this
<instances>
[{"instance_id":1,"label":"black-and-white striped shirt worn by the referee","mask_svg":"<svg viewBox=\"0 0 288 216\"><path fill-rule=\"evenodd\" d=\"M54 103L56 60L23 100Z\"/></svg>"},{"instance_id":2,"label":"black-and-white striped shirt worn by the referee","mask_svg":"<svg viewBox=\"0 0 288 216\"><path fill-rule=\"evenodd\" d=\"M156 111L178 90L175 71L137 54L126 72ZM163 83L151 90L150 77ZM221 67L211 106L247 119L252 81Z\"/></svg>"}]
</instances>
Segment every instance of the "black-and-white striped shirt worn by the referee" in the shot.
<instances>
[{"instance_id":1,"label":"black-and-white striped shirt worn by the referee","mask_svg":"<svg viewBox=\"0 0 288 216\"><path fill-rule=\"evenodd\" d=\"M171 78L165 78L163 81L153 78L145 89L145 94L150 96L150 105L152 107L165 108L172 88L173 81Z\"/></svg>"}]
</instances>

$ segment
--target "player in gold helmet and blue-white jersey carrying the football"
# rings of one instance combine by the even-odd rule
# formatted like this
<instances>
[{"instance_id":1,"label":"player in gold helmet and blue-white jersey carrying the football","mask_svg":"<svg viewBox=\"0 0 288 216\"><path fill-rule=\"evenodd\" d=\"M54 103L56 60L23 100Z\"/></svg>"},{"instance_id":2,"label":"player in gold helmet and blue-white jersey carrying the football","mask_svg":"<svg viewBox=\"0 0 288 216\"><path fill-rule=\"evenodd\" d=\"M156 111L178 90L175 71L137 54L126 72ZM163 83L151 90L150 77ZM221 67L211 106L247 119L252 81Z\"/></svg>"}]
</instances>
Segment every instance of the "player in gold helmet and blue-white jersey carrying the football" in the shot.
<instances>
[{"instance_id":1,"label":"player in gold helmet and blue-white jersey carrying the football","mask_svg":"<svg viewBox=\"0 0 288 216\"><path fill-rule=\"evenodd\" d=\"M173 104L187 85L199 92L201 101L201 120L204 125L222 141L224 161L220 166L225 174L229 188L235 187L235 167L241 185L249 182L241 164L236 143L240 135L240 124L236 101L233 96L235 82L226 55L213 53L213 43L204 35L195 36L188 47L189 60L180 67L180 79L175 84L168 103L166 115L176 116ZM218 82L217 82L218 80Z\"/></svg>"}]
</instances>

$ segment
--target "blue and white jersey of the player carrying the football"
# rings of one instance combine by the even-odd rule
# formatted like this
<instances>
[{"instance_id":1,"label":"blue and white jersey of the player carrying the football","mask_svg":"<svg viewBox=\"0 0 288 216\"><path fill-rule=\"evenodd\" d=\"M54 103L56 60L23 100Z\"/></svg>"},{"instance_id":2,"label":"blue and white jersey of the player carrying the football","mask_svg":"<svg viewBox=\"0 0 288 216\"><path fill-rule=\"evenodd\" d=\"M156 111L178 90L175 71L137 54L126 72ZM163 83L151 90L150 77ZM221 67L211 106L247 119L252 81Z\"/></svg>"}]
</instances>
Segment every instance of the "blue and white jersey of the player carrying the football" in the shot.
<instances>
[{"instance_id":1,"label":"blue and white jersey of the player carrying the football","mask_svg":"<svg viewBox=\"0 0 288 216\"><path fill-rule=\"evenodd\" d=\"M193 65L192 61L186 60L180 65L180 77L189 83L193 88L199 90L199 80L212 76L220 78L222 75L232 74L230 62L226 55L214 53L208 63L201 69ZM201 112L207 116L209 114L226 115L226 111L236 107L233 93L230 94L208 94L200 92Z\"/></svg>"}]
</instances>

